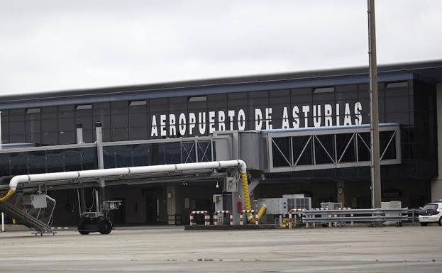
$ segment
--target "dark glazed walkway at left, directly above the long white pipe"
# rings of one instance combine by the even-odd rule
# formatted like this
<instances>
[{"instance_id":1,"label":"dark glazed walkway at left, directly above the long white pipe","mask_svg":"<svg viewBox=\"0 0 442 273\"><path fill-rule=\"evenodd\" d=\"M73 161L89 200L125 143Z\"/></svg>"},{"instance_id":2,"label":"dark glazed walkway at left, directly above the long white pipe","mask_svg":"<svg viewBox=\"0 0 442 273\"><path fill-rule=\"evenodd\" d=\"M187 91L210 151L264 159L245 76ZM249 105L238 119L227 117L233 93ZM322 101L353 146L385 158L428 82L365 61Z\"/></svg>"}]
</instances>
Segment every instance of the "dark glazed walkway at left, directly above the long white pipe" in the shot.
<instances>
[{"instance_id":1,"label":"dark glazed walkway at left, directly above the long white pipe","mask_svg":"<svg viewBox=\"0 0 442 273\"><path fill-rule=\"evenodd\" d=\"M97 169L96 147L34 148L28 152L1 152L0 177L45 172ZM110 145L103 147L104 168L137 167L212 161L210 140Z\"/></svg>"}]
</instances>

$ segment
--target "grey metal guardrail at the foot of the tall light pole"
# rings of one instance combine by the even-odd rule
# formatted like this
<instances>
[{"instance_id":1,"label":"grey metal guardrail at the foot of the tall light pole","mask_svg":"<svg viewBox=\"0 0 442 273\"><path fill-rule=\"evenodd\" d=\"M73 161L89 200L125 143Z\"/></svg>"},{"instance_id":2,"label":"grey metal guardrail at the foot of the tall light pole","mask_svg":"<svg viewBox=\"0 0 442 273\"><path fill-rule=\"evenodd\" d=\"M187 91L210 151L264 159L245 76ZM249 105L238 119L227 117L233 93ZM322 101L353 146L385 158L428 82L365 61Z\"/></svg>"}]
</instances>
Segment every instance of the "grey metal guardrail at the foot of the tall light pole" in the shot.
<instances>
[{"instance_id":1,"label":"grey metal guardrail at the foot of the tall light pole","mask_svg":"<svg viewBox=\"0 0 442 273\"><path fill-rule=\"evenodd\" d=\"M353 216L348 216L353 215ZM408 220L408 208L368 208L368 209L346 209L346 210L309 210L302 211L302 222L315 226L315 223L346 223L365 222L382 223L396 222L400 225L402 221Z\"/></svg>"}]
</instances>

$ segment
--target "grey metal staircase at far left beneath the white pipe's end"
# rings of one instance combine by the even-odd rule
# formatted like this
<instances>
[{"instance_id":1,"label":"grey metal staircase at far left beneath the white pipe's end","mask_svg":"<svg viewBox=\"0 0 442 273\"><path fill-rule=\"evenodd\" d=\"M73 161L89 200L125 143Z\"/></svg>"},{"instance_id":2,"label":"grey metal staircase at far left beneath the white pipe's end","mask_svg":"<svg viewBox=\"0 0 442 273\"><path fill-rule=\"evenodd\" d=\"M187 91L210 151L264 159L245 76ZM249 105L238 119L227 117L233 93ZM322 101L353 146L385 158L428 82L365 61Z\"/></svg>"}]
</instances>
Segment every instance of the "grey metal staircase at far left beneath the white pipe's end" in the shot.
<instances>
[{"instance_id":1,"label":"grey metal staircase at far left beneath the white pipe's end","mask_svg":"<svg viewBox=\"0 0 442 273\"><path fill-rule=\"evenodd\" d=\"M50 222L52 221L53 209L55 208L55 200L49 196L48 208L28 209L21 205L21 194L14 194L11 199L0 202L0 211L6 213L11 218L16 219L19 223L26 225L28 228L35 230L35 235L43 233L52 233Z\"/></svg>"}]
</instances>

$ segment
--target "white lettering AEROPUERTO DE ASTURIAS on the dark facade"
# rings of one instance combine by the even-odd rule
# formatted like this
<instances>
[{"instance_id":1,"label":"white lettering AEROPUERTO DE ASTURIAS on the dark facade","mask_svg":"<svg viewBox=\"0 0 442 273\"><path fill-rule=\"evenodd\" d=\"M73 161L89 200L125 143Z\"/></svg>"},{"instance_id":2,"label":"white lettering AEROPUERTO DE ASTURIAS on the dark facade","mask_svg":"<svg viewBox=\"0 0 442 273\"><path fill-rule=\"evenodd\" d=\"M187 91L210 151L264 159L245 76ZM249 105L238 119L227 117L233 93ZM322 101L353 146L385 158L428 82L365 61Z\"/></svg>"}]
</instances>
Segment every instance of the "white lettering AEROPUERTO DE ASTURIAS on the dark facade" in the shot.
<instances>
[{"instance_id":1,"label":"white lettering AEROPUERTO DE ASTURIAS on the dark facade","mask_svg":"<svg viewBox=\"0 0 442 273\"><path fill-rule=\"evenodd\" d=\"M275 109L277 111L275 111ZM272 130L308 127L360 125L363 123L363 106L358 101L346 104L314 104L255 108L252 123L248 123L245 109L226 111L201 111L198 113L170 113L153 115L150 128L152 137L205 135L216 130ZM343 116L340 115L343 112ZM275 116L276 115L276 116ZM342 119L342 120L341 120ZM254 126L254 127L253 127Z\"/></svg>"}]
</instances>

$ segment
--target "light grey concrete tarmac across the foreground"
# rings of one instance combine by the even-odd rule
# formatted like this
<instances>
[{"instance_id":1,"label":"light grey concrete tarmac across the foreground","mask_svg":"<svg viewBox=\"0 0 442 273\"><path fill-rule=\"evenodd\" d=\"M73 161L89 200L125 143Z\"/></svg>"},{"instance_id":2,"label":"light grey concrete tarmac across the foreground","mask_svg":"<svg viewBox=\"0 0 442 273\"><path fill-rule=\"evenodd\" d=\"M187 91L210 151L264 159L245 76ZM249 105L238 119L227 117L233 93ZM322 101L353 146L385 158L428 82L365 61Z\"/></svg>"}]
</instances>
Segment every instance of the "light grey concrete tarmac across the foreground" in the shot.
<instances>
[{"instance_id":1,"label":"light grey concrete tarmac across the foreground","mask_svg":"<svg viewBox=\"0 0 442 273\"><path fill-rule=\"evenodd\" d=\"M442 227L0 233L0 272L442 272Z\"/></svg>"}]
</instances>

